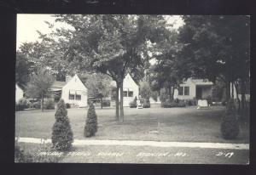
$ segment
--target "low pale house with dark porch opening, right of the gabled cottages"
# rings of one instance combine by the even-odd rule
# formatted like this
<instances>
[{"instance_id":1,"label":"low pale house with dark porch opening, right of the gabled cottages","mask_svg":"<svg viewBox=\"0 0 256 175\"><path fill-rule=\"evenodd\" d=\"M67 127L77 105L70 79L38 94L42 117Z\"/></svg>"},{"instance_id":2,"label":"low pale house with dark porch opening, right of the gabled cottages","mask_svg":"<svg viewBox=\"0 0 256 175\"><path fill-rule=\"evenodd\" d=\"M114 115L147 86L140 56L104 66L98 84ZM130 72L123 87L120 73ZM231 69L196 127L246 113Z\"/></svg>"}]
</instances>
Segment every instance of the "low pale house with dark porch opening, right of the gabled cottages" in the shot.
<instances>
[{"instance_id":1,"label":"low pale house with dark porch opening, right of the gabled cottages","mask_svg":"<svg viewBox=\"0 0 256 175\"><path fill-rule=\"evenodd\" d=\"M189 78L174 90L174 99L206 99L212 97L212 82Z\"/></svg>"}]
</instances>

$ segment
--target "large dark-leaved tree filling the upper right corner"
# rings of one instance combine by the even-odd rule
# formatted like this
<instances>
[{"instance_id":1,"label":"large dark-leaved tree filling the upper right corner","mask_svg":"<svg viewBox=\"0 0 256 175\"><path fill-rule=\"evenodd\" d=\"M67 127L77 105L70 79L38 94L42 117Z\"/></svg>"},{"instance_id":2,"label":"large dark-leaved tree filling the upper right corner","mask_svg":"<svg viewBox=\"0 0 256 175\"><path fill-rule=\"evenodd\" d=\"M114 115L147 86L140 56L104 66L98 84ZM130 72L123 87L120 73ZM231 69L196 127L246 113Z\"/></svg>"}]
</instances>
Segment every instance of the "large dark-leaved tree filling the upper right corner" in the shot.
<instances>
[{"instance_id":1,"label":"large dark-leaved tree filling the upper right corner","mask_svg":"<svg viewBox=\"0 0 256 175\"><path fill-rule=\"evenodd\" d=\"M249 78L249 16L183 16L180 30L180 69L188 76L221 78L230 99L230 83L240 81L241 89ZM242 94L242 106L245 102ZM241 107L242 107L241 106Z\"/></svg>"}]
</instances>

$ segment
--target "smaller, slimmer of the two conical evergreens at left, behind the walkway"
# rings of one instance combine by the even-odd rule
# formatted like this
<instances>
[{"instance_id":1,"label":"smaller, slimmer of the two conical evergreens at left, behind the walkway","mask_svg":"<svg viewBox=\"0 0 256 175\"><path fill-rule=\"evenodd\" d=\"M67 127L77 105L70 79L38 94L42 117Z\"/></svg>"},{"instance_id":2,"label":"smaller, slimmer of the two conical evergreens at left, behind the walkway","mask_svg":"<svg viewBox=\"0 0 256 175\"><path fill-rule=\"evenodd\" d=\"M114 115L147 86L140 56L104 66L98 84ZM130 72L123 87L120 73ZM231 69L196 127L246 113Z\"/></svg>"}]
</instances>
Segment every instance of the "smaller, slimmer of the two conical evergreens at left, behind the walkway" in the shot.
<instances>
[{"instance_id":1,"label":"smaller, slimmer of the two conical evergreens at left, behind the walkway","mask_svg":"<svg viewBox=\"0 0 256 175\"><path fill-rule=\"evenodd\" d=\"M84 127L84 137L90 138L91 136L94 136L97 132L97 129L98 126L95 108L94 105L91 102L89 102L89 109L87 112L87 118Z\"/></svg>"}]
</instances>

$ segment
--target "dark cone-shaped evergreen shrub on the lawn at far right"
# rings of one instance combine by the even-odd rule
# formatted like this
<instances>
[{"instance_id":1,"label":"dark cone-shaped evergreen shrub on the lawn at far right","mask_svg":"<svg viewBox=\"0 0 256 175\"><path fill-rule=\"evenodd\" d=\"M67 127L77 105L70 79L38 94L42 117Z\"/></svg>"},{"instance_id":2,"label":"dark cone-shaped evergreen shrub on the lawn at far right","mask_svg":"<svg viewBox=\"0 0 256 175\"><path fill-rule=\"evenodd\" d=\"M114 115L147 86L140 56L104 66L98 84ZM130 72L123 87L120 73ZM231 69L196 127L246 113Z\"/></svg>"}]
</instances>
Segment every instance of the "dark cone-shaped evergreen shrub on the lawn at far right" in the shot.
<instances>
[{"instance_id":1,"label":"dark cone-shaped evergreen shrub on the lawn at far right","mask_svg":"<svg viewBox=\"0 0 256 175\"><path fill-rule=\"evenodd\" d=\"M235 139L240 132L234 99L230 99L221 123L221 133L225 139Z\"/></svg>"}]
</instances>

